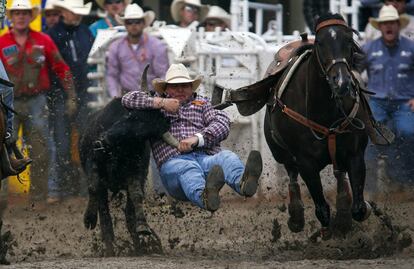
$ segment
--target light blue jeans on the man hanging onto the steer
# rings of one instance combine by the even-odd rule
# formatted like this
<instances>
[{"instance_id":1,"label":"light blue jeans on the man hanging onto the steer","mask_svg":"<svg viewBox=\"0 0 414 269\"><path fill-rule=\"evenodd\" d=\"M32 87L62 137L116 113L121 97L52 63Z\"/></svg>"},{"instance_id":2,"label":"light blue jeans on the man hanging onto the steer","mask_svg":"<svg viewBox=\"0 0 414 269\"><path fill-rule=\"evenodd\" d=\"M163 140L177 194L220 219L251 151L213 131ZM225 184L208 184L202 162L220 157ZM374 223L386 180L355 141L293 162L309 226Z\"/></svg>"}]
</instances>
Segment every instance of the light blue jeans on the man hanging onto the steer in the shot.
<instances>
[{"instance_id":1,"label":"light blue jeans on the man hanging onto the steer","mask_svg":"<svg viewBox=\"0 0 414 269\"><path fill-rule=\"evenodd\" d=\"M175 199L189 200L200 208L205 208L201 194L206 185L206 176L214 165L221 166L227 185L240 194L244 164L229 150L215 155L191 152L173 157L161 166L161 180Z\"/></svg>"}]
</instances>

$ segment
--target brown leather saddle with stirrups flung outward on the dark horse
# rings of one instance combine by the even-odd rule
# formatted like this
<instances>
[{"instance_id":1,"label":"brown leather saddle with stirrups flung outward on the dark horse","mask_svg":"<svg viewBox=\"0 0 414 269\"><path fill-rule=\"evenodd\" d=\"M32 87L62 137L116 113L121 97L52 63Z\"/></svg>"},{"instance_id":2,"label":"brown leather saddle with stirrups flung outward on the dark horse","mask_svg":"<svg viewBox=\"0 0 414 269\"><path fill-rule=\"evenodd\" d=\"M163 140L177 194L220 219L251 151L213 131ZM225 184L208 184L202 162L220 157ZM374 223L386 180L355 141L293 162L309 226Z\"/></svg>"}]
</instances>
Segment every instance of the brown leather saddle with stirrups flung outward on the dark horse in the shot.
<instances>
[{"instance_id":1,"label":"brown leather saddle with stirrups flung outward on the dark horse","mask_svg":"<svg viewBox=\"0 0 414 269\"><path fill-rule=\"evenodd\" d=\"M286 76L286 70L289 70L298 59L302 59L303 54L313 48L314 39L308 39L307 34L301 34L301 40L287 43L275 54L273 61L266 70L265 77L251 85L226 91L225 102L220 103L224 92L223 88L218 86L213 91L212 103L217 104L215 107L223 109L236 104L239 113L243 116L250 116L259 111L265 104L273 104L273 96L277 85L281 85L283 80L289 80ZM362 100L363 121L366 125L366 131L371 141L377 145L389 145L393 142L395 135L386 126L374 119L371 108L368 104L365 94L374 94L365 88L358 72L353 71L353 77L360 88ZM279 81L283 79L282 81ZM288 81L287 81L288 82ZM364 94L365 93L365 94ZM280 95L282 93L279 93Z\"/></svg>"}]
</instances>

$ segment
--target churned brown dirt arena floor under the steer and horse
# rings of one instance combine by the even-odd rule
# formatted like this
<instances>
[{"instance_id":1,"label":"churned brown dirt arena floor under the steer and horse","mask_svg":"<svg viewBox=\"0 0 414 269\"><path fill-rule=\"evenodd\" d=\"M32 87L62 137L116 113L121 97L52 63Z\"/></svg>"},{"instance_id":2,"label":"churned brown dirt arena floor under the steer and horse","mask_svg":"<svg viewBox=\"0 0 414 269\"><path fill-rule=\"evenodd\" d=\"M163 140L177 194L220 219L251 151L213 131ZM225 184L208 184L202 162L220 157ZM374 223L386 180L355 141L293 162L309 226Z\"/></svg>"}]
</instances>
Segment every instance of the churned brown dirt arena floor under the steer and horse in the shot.
<instances>
[{"instance_id":1,"label":"churned brown dirt arena floor under the steer and horse","mask_svg":"<svg viewBox=\"0 0 414 269\"><path fill-rule=\"evenodd\" d=\"M345 237L321 240L313 203L304 195L306 225L287 228L287 198L266 189L243 199L223 190L213 215L188 203L147 198L145 210L162 255L134 256L123 217L124 197L111 203L118 257L103 257L99 227L83 227L86 198L31 204L9 197L2 233L10 231L8 268L414 268L414 192L371 195L371 217ZM304 191L303 191L304 192ZM327 193L330 204L334 199ZM270 198L269 198L270 197Z\"/></svg>"}]
</instances>

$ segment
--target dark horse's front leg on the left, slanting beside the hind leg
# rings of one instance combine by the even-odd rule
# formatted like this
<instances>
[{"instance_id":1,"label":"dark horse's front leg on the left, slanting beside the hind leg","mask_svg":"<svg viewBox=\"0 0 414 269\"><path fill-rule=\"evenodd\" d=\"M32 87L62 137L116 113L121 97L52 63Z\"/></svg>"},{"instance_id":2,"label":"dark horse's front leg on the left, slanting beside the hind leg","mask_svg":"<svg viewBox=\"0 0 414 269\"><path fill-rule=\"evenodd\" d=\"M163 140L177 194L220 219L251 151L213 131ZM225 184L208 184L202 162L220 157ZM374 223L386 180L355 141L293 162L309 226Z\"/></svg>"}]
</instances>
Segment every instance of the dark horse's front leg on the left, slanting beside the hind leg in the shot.
<instances>
[{"instance_id":1,"label":"dark horse's front leg on the left, slanting beside the hind leg","mask_svg":"<svg viewBox=\"0 0 414 269\"><path fill-rule=\"evenodd\" d=\"M323 188L321 182L321 176L317 170L318 165L309 159L298 160L300 175L308 187L309 193L315 204L315 215L322 225L322 232L328 230L329 223L331 220L331 212L328 203L323 195Z\"/></svg>"}]
</instances>

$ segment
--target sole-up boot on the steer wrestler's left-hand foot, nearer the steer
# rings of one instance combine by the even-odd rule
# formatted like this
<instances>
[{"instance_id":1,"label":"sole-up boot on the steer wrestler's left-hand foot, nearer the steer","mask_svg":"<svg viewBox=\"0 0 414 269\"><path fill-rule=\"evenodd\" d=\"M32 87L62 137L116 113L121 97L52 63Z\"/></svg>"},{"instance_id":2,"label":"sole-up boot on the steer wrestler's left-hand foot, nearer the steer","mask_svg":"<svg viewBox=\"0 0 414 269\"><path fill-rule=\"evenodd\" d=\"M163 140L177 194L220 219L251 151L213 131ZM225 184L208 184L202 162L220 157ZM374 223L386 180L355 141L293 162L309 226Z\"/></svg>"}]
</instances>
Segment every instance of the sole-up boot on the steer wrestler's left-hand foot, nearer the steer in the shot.
<instances>
[{"instance_id":1,"label":"sole-up boot on the steer wrestler's left-hand foot, nearer the steer","mask_svg":"<svg viewBox=\"0 0 414 269\"><path fill-rule=\"evenodd\" d=\"M224 186L224 172L221 166L215 165L207 175L206 186L202 193L205 209L214 212L220 206L219 192Z\"/></svg>"}]
</instances>

